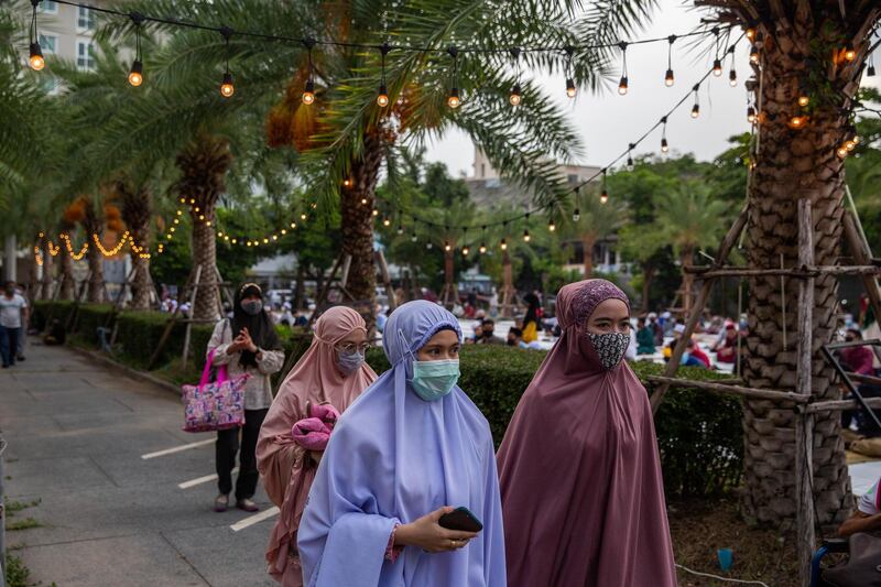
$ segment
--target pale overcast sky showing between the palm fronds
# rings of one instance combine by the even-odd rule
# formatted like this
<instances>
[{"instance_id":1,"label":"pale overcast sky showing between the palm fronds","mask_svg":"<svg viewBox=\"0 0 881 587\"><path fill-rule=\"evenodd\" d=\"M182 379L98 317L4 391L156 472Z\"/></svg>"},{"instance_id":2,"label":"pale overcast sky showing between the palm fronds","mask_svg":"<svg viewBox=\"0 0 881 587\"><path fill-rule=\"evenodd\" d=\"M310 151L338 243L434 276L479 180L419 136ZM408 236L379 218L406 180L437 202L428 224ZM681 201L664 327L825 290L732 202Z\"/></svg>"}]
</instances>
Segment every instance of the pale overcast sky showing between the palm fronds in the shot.
<instances>
[{"instance_id":1,"label":"pale overcast sky showing between the palm fronds","mask_svg":"<svg viewBox=\"0 0 881 587\"><path fill-rule=\"evenodd\" d=\"M693 6L692 2L683 3L682 0L659 0L659 4L661 9L655 12L652 22L634 37L687 33L699 25L704 14L688 8ZM570 100L565 95L565 80L548 78L547 87L558 88L554 96L568 112L586 146L585 155L576 163L608 164L627 149L628 143L654 124L713 66L713 56L705 58L701 51L689 48L685 40L674 44L676 83L672 88L664 86L666 43L628 48L630 91L627 96L618 95L616 81L600 95L581 91ZM722 77L710 76L709 84L701 85L698 119L689 116L690 99L670 118L667 141L673 152L694 153L699 160L711 160L728 146L729 137L749 130L743 84L751 75L748 54L749 46L741 41L736 56L737 87L731 88L728 84L728 61ZM881 66L881 63L878 65ZM879 79L874 77L866 81L878 87ZM661 143L660 132L660 129L655 131L635 152L656 153ZM460 132L449 132L429 144L426 155L432 161L446 163L454 176L471 175L474 144Z\"/></svg>"}]
</instances>

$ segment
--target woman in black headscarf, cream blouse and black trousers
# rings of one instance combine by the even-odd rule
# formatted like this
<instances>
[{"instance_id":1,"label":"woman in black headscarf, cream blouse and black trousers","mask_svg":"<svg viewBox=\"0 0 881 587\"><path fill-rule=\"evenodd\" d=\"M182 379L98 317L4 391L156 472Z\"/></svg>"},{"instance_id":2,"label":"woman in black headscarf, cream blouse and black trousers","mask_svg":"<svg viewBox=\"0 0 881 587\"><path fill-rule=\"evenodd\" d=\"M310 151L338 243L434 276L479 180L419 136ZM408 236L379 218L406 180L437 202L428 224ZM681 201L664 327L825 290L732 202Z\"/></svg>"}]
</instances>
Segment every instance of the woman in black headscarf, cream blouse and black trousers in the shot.
<instances>
[{"instance_id":1,"label":"woman in black headscarf, cream blouse and black trousers","mask_svg":"<svg viewBox=\"0 0 881 587\"><path fill-rule=\"evenodd\" d=\"M260 509L251 500L260 477L257 471L257 438L272 403L270 376L281 370L284 363L281 348L272 318L263 309L262 290L255 283L246 283L236 295L232 319L218 322L208 341L208 355L214 351L213 365L226 365L230 378L243 373L250 376L244 388L244 425L217 432L215 460L220 494L215 499L215 511L222 512L229 507L240 431L236 507L248 512Z\"/></svg>"}]
</instances>

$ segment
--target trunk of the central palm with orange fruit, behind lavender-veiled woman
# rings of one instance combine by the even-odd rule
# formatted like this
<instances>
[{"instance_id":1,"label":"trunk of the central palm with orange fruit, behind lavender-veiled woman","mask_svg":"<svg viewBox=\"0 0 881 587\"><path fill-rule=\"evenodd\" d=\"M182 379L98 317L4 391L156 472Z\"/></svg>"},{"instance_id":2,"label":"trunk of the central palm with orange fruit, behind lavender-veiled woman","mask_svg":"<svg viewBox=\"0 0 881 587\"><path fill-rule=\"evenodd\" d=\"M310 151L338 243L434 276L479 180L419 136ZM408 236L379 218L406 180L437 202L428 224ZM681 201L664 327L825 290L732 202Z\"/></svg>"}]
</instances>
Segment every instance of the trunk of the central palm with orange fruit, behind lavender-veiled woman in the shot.
<instances>
[{"instance_id":1,"label":"trunk of the central palm with orange fruit, behind lavender-veiled woman","mask_svg":"<svg viewBox=\"0 0 881 587\"><path fill-rule=\"evenodd\" d=\"M340 229L342 252L351 256L346 289L359 302L373 307L377 295L377 271L373 265L373 193L382 164L382 149L376 132L366 132L363 155L351 163L352 185L340 194ZM366 204L365 204L366 202ZM365 316L373 327L374 318Z\"/></svg>"}]
</instances>

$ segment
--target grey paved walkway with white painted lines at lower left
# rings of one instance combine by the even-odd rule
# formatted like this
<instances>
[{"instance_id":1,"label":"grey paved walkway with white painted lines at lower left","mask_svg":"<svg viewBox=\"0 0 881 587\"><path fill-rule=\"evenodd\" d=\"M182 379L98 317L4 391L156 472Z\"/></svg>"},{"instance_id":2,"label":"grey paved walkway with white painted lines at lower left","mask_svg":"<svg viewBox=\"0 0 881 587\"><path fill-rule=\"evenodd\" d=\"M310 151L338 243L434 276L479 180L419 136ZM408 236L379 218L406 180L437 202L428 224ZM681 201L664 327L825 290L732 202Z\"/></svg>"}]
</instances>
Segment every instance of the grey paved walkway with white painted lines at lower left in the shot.
<instances>
[{"instance_id":1,"label":"grey paved walkway with white painted lines at lower left","mask_svg":"<svg viewBox=\"0 0 881 587\"><path fill-rule=\"evenodd\" d=\"M7 497L41 500L8 523L42 524L8 532L7 545L21 548L34 580L276 585L263 563L273 517L211 511L215 481L199 478L214 472L214 435L181 432L182 416L168 390L68 349L31 346L25 362L0 371ZM142 458L150 453L159 455ZM271 506L262 489L254 500Z\"/></svg>"}]
</instances>

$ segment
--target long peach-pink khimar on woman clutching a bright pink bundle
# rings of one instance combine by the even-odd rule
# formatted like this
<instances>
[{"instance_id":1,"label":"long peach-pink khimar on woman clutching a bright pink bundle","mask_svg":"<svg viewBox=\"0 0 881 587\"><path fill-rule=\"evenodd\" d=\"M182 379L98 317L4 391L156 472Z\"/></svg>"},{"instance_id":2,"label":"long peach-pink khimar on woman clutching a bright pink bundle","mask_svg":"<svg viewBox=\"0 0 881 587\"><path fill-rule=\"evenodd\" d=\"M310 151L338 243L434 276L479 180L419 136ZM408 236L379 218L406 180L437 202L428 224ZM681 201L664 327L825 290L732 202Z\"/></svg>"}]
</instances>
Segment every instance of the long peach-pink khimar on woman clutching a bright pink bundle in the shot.
<instances>
[{"instance_id":1,"label":"long peach-pink khimar on woman clutching a bright pink bundle","mask_svg":"<svg viewBox=\"0 0 881 587\"><path fill-rule=\"evenodd\" d=\"M284 587L303 585L296 548L296 530L306 507L316 468L305 448L291 436L295 423L308 417L309 406L329 403L342 413L376 379L365 363L344 377L337 368L334 347L350 333L365 330L363 318L354 309L337 306L315 323L312 346L291 369L269 409L257 443L257 467L269 498L281 508L267 546L269 573Z\"/></svg>"}]
</instances>

